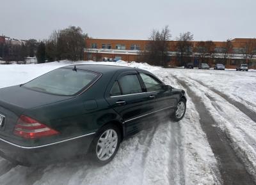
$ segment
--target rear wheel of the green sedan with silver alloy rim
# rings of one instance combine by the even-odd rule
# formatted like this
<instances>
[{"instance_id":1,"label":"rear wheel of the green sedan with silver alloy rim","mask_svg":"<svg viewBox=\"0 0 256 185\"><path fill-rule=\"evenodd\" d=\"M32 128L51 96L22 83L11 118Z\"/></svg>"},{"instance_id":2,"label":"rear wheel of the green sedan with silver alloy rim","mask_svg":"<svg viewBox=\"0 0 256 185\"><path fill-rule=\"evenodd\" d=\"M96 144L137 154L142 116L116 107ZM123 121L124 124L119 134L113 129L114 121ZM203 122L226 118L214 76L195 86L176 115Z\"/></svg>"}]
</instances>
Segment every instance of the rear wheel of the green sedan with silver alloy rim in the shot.
<instances>
[{"instance_id":1,"label":"rear wheel of the green sedan with silver alloy rim","mask_svg":"<svg viewBox=\"0 0 256 185\"><path fill-rule=\"evenodd\" d=\"M108 134L109 137L107 136ZM116 142L114 140L117 140ZM89 155L95 165L103 166L116 155L121 142L121 132L115 124L106 124L98 132L90 146ZM103 150L100 152L100 150ZM108 156L108 154L110 156ZM102 157L101 155L102 154Z\"/></svg>"}]
</instances>

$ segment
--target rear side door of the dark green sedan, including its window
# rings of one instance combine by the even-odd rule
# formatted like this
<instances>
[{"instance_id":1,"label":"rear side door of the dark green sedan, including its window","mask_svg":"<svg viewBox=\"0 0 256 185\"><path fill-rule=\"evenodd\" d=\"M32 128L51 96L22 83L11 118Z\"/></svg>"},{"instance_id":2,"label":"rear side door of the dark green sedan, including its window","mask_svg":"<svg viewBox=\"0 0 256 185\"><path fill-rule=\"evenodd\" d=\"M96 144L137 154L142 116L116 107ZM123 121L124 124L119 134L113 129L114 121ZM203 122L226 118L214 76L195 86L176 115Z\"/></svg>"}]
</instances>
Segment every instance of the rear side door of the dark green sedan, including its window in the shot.
<instances>
[{"instance_id":1,"label":"rear side door of the dark green sedan, including its window","mask_svg":"<svg viewBox=\"0 0 256 185\"><path fill-rule=\"evenodd\" d=\"M138 75L135 70L121 73L106 93L110 107L124 119L127 135L139 131L154 111Z\"/></svg>"}]
</instances>

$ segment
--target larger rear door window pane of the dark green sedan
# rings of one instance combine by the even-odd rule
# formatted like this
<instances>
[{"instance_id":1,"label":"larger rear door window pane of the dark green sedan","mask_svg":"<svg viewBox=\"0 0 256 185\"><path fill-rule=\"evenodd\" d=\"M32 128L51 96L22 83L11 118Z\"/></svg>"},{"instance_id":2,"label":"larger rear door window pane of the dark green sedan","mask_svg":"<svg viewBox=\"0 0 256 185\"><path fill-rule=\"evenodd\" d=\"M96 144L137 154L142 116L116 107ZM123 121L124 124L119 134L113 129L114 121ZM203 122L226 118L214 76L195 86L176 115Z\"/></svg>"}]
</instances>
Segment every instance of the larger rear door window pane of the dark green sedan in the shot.
<instances>
[{"instance_id":1,"label":"larger rear door window pane of the dark green sedan","mask_svg":"<svg viewBox=\"0 0 256 185\"><path fill-rule=\"evenodd\" d=\"M141 85L137 75L125 75L119 80L123 94L141 93Z\"/></svg>"}]
</instances>

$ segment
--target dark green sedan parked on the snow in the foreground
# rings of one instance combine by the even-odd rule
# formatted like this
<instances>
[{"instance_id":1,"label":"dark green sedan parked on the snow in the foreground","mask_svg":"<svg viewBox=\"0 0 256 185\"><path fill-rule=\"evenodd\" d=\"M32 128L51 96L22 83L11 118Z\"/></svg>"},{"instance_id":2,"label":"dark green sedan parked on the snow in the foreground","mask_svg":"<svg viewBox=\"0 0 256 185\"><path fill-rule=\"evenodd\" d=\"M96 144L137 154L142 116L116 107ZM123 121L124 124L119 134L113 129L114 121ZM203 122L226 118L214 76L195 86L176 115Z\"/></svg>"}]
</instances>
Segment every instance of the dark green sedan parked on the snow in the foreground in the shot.
<instances>
[{"instance_id":1,"label":"dark green sedan parked on the snow in the foreground","mask_svg":"<svg viewBox=\"0 0 256 185\"><path fill-rule=\"evenodd\" d=\"M148 71L65 66L0 89L0 156L22 165L86 156L104 165L156 117L179 121L185 112L184 91Z\"/></svg>"}]
</instances>

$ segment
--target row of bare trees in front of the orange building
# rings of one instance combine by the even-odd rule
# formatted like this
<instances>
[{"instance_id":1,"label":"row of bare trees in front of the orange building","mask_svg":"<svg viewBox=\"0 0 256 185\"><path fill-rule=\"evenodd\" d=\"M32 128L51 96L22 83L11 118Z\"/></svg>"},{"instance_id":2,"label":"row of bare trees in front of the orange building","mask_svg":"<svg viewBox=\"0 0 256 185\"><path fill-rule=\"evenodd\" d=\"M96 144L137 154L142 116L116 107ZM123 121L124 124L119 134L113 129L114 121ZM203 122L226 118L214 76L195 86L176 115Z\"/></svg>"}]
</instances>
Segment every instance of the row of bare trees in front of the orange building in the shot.
<instances>
[{"instance_id":1,"label":"row of bare trees in front of the orange building","mask_svg":"<svg viewBox=\"0 0 256 185\"><path fill-rule=\"evenodd\" d=\"M220 50L216 50L216 45L213 41L199 41L193 45L193 34L189 31L180 33L179 37L175 39L173 45L170 45L172 34L168 26L163 29L153 30L150 34L148 45L145 50L141 51L138 56L138 61L145 62L152 65L168 66L171 57L176 57L179 66L184 66L186 63L191 63L193 55L198 58L200 63L207 62L212 59L215 53L223 55L222 62L224 64L228 61L229 54L232 54L232 41L228 39ZM250 40L243 48L239 48L239 54L243 54L244 63L251 61L256 55L256 40ZM175 50L175 52L170 52Z\"/></svg>"}]
</instances>

